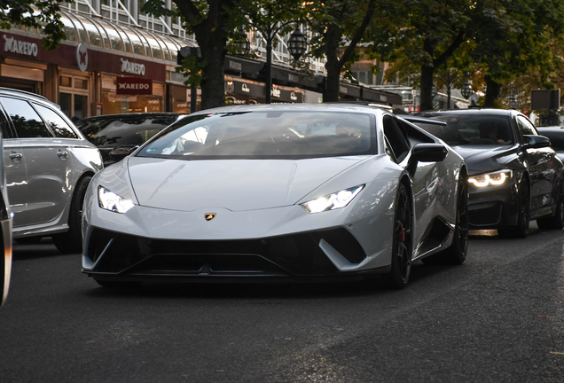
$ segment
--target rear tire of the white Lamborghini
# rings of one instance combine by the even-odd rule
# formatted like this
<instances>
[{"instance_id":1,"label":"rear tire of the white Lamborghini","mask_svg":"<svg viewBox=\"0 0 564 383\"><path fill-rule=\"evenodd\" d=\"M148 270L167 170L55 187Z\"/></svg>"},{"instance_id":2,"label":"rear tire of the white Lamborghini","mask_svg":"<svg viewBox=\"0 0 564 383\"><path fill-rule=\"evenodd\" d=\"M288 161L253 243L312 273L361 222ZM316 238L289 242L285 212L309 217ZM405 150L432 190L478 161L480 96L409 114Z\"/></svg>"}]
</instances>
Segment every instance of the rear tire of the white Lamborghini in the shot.
<instances>
[{"instance_id":1,"label":"rear tire of the white Lamborghini","mask_svg":"<svg viewBox=\"0 0 564 383\"><path fill-rule=\"evenodd\" d=\"M457 223L454 227L452 243L442 252L422 260L425 264L458 265L466 261L468 251L468 181L466 177L458 180Z\"/></svg>"}]
</instances>

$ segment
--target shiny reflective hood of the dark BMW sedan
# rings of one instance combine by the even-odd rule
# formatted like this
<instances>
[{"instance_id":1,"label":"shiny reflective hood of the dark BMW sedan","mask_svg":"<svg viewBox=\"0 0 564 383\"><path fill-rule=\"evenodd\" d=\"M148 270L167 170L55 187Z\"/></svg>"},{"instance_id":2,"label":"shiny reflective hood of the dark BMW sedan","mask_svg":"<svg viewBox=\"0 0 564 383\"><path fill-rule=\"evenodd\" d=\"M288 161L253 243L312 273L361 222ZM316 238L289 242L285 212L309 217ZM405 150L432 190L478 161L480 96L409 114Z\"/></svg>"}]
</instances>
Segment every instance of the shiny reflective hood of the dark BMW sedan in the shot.
<instances>
[{"instance_id":1,"label":"shiny reflective hood of the dark BMW sedan","mask_svg":"<svg viewBox=\"0 0 564 383\"><path fill-rule=\"evenodd\" d=\"M476 145L452 147L464 160L470 174L495 171L518 158L519 145Z\"/></svg>"}]
</instances>

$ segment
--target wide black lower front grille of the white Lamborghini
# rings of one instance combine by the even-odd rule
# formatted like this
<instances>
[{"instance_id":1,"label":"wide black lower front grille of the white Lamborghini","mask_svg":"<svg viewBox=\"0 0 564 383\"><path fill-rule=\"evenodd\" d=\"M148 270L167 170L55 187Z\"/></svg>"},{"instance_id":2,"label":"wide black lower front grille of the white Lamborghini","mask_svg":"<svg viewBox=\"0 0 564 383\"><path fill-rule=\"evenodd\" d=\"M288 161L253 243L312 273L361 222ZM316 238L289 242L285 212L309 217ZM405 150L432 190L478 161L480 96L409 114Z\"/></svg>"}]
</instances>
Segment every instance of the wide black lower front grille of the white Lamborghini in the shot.
<instances>
[{"instance_id":1,"label":"wide black lower front grille of the white Lamborghini","mask_svg":"<svg viewBox=\"0 0 564 383\"><path fill-rule=\"evenodd\" d=\"M345 229L245 240L166 240L96 230L88 256L95 272L170 275L317 275L338 272L318 244L325 239L349 262L364 260Z\"/></svg>"}]
</instances>

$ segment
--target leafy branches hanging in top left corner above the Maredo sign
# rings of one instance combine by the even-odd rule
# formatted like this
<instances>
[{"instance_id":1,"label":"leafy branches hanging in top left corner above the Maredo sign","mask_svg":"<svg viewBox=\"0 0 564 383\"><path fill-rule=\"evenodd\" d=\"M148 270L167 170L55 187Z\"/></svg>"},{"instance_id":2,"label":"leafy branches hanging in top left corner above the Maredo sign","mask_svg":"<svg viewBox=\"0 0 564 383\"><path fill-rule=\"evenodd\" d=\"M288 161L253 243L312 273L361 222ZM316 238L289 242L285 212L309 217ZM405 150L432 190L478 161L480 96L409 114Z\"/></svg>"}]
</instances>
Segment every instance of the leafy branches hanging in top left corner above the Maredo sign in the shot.
<instances>
[{"instance_id":1,"label":"leafy branches hanging in top left corner above the Maredo sign","mask_svg":"<svg viewBox=\"0 0 564 383\"><path fill-rule=\"evenodd\" d=\"M60 3L64 0L2 0L0 1L0 28L13 25L35 27L42 30L43 48L53 51L66 38L60 20ZM32 5L38 11L34 11Z\"/></svg>"}]
</instances>

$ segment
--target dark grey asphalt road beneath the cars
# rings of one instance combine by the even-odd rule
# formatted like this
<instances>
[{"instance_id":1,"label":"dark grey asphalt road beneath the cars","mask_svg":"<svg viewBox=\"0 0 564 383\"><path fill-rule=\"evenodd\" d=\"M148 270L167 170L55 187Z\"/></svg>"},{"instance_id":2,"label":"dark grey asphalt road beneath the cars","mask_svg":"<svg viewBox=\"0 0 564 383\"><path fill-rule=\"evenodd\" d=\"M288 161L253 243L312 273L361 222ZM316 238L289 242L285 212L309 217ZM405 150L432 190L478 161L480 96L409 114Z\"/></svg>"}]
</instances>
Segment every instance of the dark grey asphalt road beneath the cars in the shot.
<instances>
[{"instance_id":1,"label":"dark grey asphalt road beneath the cars","mask_svg":"<svg viewBox=\"0 0 564 383\"><path fill-rule=\"evenodd\" d=\"M116 292L16 245L0 382L563 382L564 232L473 236L466 263L379 284Z\"/></svg>"}]
</instances>

